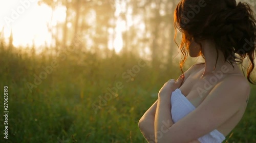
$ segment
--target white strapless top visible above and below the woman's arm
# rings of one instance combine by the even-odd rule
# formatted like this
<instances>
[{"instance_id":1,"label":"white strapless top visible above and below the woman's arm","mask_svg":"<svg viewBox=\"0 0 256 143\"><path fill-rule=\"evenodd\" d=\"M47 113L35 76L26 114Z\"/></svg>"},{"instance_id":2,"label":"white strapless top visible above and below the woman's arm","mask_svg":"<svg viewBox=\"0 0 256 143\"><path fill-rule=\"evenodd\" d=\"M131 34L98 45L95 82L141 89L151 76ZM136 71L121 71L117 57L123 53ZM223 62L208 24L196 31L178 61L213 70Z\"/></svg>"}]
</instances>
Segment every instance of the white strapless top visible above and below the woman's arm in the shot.
<instances>
[{"instance_id":1,"label":"white strapless top visible above and below the woman's arm","mask_svg":"<svg viewBox=\"0 0 256 143\"><path fill-rule=\"evenodd\" d=\"M196 109L196 107L181 93L180 89L176 89L172 93L170 104L172 105L171 115L174 123L178 122L180 119L188 115L189 112ZM224 139L225 136L218 130L213 130L198 138L201 143L220 143Z\"/></svg>"}]
</instances>

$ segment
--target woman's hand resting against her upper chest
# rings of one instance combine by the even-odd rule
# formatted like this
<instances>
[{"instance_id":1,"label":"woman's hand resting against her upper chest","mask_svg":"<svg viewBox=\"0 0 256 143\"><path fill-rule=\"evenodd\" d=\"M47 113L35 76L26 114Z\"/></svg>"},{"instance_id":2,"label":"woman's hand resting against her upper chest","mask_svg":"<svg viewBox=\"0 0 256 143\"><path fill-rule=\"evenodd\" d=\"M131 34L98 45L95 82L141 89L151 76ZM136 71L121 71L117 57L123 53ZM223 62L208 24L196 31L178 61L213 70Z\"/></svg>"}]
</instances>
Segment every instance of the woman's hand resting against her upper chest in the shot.
<instances>
[{"instance_id":1,"label":"woman's hand resting against her upper chest","mask_svg":"<svg viewBox=\"0 0 256 143\"><path fill-rule=\"evenodd\" d=\"M163 87L158 93L158 98L162 96L169 96L170 94L172 94L173 91L180 88L183 80L184 80L184 76L181 75L177 80L170 79L169 81L164 83Z\"/></svg>"}]
</instances>

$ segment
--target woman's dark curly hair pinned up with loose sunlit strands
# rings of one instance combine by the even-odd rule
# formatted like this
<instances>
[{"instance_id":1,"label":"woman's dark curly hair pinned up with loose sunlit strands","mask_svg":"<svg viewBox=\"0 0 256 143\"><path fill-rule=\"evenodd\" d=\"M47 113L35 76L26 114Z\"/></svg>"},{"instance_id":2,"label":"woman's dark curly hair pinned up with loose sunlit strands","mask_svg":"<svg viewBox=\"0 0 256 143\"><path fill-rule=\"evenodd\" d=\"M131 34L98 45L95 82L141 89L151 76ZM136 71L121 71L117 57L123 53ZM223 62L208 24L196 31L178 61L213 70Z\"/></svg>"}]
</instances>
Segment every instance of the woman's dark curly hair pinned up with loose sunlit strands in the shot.
<instances>
[{"instance_id":1,"label":"woman's dark curly hair pinned up with loose sunlit strands","mask_svg":"<svg viewBox=\"0 0 256 143\"><path fill-rule=\"evenodd\" d=\"M231 65L239 62L243 66L243 60L248 57L247 79L253 83L250 74L255 66L255 23L253 11L247 3L237 4L236 0L182 0L174 13L175 39L177 29L182 32L181 70L187 59L189 42L194 40L202 46L200 40L212 39L216 43L217 60L218 49Z\"/></svg>"}]
</instances>

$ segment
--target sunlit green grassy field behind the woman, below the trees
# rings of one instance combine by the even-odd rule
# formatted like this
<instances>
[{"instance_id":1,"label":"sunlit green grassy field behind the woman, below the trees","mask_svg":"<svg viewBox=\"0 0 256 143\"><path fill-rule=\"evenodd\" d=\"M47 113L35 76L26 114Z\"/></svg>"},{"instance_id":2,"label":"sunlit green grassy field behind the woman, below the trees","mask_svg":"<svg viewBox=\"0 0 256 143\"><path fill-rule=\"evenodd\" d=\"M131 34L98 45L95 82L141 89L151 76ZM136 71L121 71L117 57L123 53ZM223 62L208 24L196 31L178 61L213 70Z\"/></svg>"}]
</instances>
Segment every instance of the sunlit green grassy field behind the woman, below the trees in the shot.
<instances>
[{"instance_id":1,"label":"sunlit green grassy field behind the woman, below the trees","mask_svg":"<svg viewBox=\"0 0 256 143\"><path fill-rule=\"evenodd\" d=\"M177 66L156 71L143 62L135 55L36 55L0 46L0 111L4 86L9 111L8 139L2 115L0 142L146 142L138 121L162 84L181 72ZM256 142L255 87L227 142Z\"/></svg>"}]
</instances>

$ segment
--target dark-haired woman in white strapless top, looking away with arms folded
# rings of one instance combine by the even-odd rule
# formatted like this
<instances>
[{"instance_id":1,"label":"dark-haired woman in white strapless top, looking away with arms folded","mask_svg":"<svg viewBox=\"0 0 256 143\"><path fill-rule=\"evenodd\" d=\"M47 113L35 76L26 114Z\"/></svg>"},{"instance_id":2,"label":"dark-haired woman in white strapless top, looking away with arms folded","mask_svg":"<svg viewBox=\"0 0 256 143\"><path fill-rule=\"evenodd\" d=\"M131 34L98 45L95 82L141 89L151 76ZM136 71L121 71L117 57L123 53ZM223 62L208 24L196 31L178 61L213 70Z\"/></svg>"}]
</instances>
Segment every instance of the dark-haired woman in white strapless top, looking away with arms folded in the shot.
<instances>
[{"instance_id":1,"label":"dark-haired woman in white strapless top, looking away with arms folded","mask_svg":"<svg viewBox=\"0 0 256 143\"><path fill-rule=\"evenodd\" d=\"M183 35L181 68L187 52L203 56L205 63L167 81L139 128L148 142L222 142L249 99L256 47L253 12L235 0L182 0L174 19ZM246 57L247 79L237 65Z\"/></svg>"}]
</instances>

